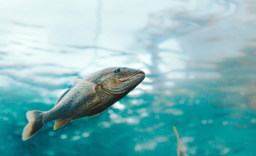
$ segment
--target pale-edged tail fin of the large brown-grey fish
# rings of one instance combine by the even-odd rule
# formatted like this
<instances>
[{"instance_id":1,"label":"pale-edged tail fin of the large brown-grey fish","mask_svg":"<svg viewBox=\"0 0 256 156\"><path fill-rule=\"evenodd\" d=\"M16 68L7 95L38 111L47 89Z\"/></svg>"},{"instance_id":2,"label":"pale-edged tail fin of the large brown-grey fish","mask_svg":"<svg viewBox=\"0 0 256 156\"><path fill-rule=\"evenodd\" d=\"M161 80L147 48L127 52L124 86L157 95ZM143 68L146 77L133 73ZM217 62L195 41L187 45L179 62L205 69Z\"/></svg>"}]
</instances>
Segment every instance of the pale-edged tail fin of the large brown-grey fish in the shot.
<instances>
[{"instance_id":1,"label":"pale-edged tail fin of the large brown-grey fish","mask_svg":"<svg viewBox=\"0 0 256 156\"><path fill-rule=\"evenodd\" d=\"M43 126L42 122L43 111L28 111L26 116L28 123L23 129L22 140L27 140L33 137Z\"/></svg>"}]
</instances>

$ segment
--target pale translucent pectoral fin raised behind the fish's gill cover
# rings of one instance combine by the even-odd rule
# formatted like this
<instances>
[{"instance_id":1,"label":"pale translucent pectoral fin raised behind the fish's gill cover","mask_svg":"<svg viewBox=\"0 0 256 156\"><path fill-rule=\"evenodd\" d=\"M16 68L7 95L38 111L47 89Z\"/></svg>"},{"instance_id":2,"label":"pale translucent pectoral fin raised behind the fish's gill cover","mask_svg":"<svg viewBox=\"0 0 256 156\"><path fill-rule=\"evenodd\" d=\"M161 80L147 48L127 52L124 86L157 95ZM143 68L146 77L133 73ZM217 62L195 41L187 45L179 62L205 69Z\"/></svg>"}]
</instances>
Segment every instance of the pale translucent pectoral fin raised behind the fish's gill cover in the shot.
<instances>
[{"instance_id":1,"label":"pale translucent pectoral fin raised behind the fish's gill cover","mask_svg":"<svg viewBox=\"0 0 256 156\"><path fill-rule=\"evenodd\" d=\"M88 95L96 92L95 89L97 87L97 84L81 78L71 78L71 79L79 85L78 88L84 89Z\"/></svg>"}]
</instances>

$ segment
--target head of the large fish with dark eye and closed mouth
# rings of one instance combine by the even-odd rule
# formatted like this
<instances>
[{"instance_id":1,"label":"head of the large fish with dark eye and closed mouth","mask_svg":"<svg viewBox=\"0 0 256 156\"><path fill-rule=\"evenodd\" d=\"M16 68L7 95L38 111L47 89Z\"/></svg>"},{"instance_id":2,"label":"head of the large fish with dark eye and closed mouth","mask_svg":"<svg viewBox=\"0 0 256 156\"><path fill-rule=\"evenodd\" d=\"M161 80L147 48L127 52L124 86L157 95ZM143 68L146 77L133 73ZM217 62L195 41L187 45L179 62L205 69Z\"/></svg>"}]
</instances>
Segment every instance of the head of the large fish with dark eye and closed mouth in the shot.
<instances>
[{"instance_id":1,"label":"head of the large fish with dark eye and closed mouth","mask_svg":"<svg viewBox=\"0 0 256 156\"><path fill-rule=\"evenodd\" d=\"M140 69L126 67L111 67L105 69L101 77L103 90L111 95L128 94L145 78L145 72Z\"/></svg>"}]
</instances>

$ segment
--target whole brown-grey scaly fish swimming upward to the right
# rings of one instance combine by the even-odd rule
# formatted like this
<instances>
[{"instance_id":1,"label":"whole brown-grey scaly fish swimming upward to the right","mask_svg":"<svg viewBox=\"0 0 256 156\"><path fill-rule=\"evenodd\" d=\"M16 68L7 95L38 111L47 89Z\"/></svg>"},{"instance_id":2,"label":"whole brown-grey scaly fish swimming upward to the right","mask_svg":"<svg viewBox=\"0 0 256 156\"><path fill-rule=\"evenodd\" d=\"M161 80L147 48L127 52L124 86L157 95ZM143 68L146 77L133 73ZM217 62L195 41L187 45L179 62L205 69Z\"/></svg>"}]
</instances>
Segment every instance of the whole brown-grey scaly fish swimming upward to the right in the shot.
<instances>
[{"instance_id":1,"label":"whole brown-grey scaly fish swimming upward to the right","mask_svg":"<svg viewBox=\"0 0 256 156\"><path fill-rule=\"evenodd\" d=\"M22 140L33 137L47 122L55 120L54 130L77 118L95 116L119 101L140 84L146 74L140 69L110 67L88 77L72 78L73 87L66 90L55 106L44 111L28 111Z\"/></svg>"}]
</instances>

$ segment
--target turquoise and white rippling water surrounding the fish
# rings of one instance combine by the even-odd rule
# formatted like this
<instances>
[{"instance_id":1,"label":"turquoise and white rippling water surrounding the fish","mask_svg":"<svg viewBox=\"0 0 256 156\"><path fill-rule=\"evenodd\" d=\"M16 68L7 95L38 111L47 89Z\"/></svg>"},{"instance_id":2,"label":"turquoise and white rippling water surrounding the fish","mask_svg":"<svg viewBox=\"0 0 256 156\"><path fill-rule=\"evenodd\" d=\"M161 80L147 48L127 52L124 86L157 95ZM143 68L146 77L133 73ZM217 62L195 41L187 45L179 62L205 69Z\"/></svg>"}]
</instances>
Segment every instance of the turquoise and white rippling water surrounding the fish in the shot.
<instances>
[{"instance_id":1,"label":"turquoise and white rippling water surrounding the fish","mask_svg":"<svg viewBox=\"0 0 256 156\"><path fill-rule=\"evenodd\" d=\"M1 156L253 156L253 0L0 1ZM112 66L145 80L103 113L22 141L26 112L51 109Z\"/></svg>"}]
</instances>

